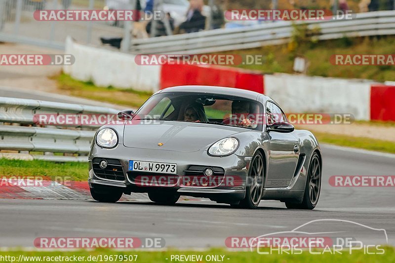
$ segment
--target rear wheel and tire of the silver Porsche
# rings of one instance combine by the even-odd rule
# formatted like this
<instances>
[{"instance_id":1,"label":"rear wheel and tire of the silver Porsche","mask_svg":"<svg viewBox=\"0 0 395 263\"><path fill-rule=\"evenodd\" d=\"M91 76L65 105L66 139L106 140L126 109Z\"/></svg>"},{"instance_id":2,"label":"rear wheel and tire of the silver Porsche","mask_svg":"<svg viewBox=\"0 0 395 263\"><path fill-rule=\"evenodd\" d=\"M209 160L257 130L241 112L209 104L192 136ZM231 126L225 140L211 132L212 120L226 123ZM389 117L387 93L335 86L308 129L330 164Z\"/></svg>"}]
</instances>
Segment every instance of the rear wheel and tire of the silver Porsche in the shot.
<instances>
[{"instance_id":1,"label":"rear wheel and tire of the silver Porsche","mask_svg":"<svg viewBox=\"0 0 395 263\"><path fill-rule=\"evenodd\" d=\"M290 209L309 209L313 210L317 203L319 194L321 192L321 164L318 154L313 153L309 172L306 179L305 193L303 195L302 203L285 202L285 206Z\"/></svg>"}]
</instances>

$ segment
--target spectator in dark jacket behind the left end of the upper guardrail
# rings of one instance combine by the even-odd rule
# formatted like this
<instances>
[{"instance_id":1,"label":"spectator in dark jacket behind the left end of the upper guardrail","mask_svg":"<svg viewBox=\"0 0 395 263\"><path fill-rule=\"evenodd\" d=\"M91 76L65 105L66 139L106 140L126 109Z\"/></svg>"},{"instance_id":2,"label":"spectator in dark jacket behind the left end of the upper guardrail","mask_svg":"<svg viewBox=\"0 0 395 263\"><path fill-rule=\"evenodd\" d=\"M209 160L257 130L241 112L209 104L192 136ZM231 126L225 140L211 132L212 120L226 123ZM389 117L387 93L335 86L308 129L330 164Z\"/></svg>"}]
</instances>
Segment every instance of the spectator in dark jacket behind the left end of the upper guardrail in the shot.
<instances>
[{"instance_id":1,"label":"spectator in dark jacket behind the left end of the upper guardrail","mask_svg":"<svg viewBox=\"0 0 395 263\"><path fill-rule=\"evenodd\" d=\"M190 0L187 20L180 25L180 30L184 30L186 33L204 30L206 17L201 14L203 6L203 0Z\"/></svg>"}]
</instances>

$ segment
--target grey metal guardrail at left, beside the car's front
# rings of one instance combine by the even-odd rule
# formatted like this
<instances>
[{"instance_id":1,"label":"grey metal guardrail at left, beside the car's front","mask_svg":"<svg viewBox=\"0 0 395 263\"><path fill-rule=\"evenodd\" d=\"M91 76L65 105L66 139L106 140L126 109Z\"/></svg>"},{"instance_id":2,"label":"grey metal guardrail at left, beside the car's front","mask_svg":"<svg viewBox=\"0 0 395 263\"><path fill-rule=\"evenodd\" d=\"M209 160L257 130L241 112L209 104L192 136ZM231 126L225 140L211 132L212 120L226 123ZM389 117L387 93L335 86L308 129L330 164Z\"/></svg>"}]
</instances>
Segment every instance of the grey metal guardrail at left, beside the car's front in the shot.
<instances>
[{"instance_id":1,"label":"grey metal guardrail at left, beside the car's front","mask_svg":"<svg viewBox=\"0 0 395 263\"><path fill-rule=\"evenodd\" d=\"M117 113L105 107L0 97L0 157L87 161L95 130L101 125L45 126L38 123L38 114Z\"/></svg>"}]
</instances>

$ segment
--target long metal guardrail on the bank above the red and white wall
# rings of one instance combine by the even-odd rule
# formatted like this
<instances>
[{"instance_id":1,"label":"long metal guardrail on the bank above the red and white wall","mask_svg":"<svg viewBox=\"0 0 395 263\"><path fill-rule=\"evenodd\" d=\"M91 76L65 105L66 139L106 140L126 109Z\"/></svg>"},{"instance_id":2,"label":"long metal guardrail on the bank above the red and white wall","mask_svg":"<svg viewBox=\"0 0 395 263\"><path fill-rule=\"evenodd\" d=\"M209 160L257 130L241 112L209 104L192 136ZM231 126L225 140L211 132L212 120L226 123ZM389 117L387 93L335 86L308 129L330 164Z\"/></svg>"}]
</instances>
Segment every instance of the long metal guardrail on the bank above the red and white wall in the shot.
<instances>
[{"instance_id":1,"label":"long metal guardrail on the bank above the red and white wall","mask_svg":"<svg viewBox=\"0 0 395 263\"><path fill-rule=\"evenodd\" d=\"M332 17L335 18L335 17ZM276 21L237 29L217 29L158 38L134 39L130 52L135 54L201 54L265 45L282 44L292 36L292 24L318 28L319 40L347 37L395 35L395 10L356 13L351 20Z\"/></svg>"}]
</instances>

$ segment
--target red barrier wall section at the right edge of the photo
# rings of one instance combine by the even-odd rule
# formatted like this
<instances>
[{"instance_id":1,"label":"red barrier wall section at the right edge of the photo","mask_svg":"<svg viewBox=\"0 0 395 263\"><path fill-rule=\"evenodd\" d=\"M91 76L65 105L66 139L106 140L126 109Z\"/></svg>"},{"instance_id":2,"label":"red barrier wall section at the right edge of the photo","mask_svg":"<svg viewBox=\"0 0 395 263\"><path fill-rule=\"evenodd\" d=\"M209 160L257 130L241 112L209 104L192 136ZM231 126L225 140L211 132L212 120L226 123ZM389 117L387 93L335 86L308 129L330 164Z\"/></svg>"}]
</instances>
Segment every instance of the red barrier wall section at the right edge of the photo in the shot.
<instances>
[{"instance_id":1,"label":"red barrier wall section at the right edge of the photo","mask_svg":"<svg viewBox=\"0 0 395 263\"><path fill-rule=\"evenodd\" d=\"M371 85L370 119L395 121L395 86Z\"/></svg>"}]
</instances>

